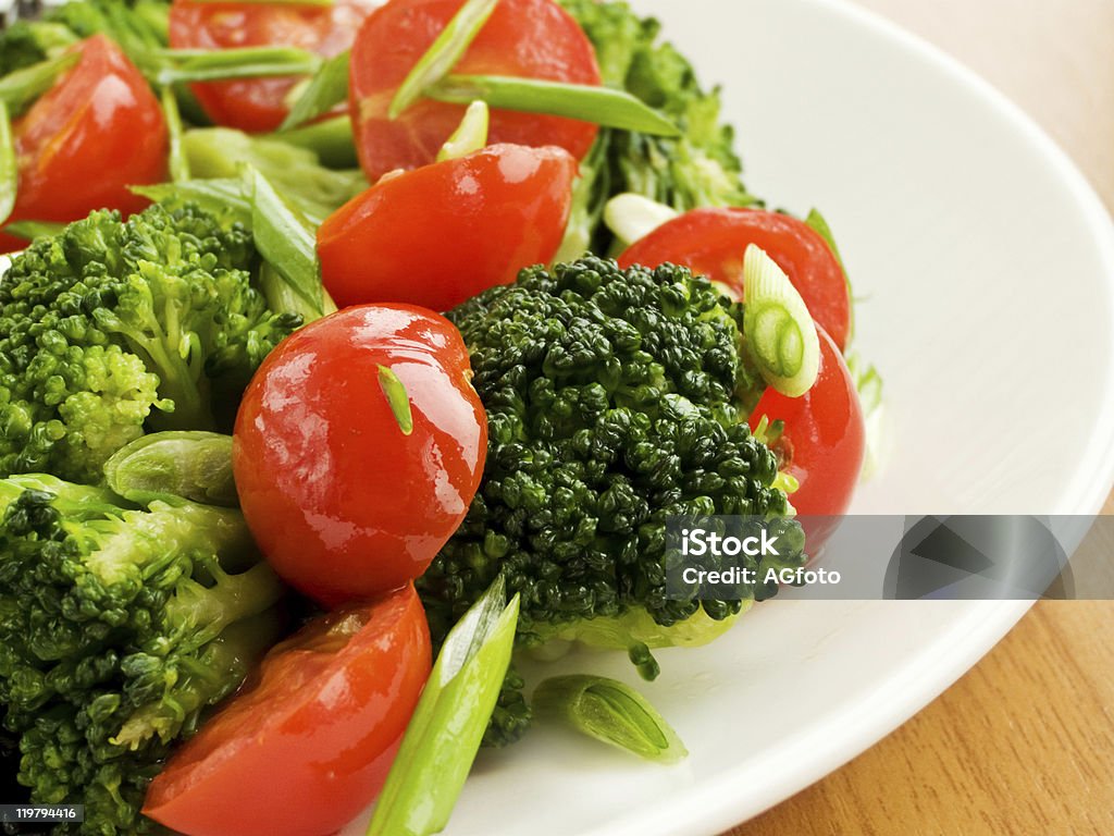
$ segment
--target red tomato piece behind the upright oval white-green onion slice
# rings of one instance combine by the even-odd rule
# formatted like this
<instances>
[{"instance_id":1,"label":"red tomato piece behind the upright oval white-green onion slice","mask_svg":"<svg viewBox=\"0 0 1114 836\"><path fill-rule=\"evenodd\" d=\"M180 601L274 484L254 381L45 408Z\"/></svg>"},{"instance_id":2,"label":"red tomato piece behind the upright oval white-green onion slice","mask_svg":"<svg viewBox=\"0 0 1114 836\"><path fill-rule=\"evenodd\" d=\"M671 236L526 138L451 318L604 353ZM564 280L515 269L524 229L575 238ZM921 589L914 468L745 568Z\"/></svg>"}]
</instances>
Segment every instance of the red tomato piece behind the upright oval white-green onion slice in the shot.
<instances>
[{"instance_id":1,"label":"red tomato piece behind the upright oval white-green onion slice","mask_svg":"<svg viewBox=\"0 0 1114 836\"><path fill-rule=\"evenodd\" d=\"M812 319L847 348L851 299L847 278L828 243L808 224L760 210L698 208L676 217L619 256L628 268L673 262L743 293L743 254L758 244L785 271Z\"/></svg>"}]
</instances>

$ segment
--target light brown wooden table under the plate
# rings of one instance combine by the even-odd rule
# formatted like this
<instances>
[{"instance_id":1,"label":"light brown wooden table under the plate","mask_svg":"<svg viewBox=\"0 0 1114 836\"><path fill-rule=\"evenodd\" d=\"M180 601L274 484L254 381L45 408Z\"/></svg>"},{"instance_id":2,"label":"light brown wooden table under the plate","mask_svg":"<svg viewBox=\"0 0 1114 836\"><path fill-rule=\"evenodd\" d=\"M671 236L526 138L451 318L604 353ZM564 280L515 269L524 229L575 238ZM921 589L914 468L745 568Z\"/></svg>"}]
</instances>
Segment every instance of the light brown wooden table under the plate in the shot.
<instances>
[{"instance_id":1,"label":"light brown wooden table under the plate","mask_svg":"<svg viewBox=\"0 0 1114 836\"><path fill-rule=\"evenodd\" d=\"M1020 104L1114 207L1114 0L860 2ZM1110 833L1114 602L1065 601L1038 603L912 720L731 836Z\"/></svg>"}]
</instances>

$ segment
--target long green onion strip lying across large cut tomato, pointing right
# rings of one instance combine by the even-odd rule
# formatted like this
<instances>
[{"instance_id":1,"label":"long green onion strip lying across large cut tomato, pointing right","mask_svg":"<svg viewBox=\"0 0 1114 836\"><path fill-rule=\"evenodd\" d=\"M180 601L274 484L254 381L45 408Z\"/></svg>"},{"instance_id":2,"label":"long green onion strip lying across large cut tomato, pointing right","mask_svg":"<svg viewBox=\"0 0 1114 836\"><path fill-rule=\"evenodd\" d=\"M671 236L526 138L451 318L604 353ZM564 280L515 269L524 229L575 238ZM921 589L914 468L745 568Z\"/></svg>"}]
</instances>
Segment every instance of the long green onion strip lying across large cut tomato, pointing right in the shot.
<instances>
[{"instance_id":1,"label":"long green onion strip lying across large cut tomato, pointing right","mask_svg":"<svg viewBox=\"0 0 1114 836\"><path fill-rule=\"evenodd\" d=\"M426 90L438 101L468 104L483 99L491 107L529 114L564 116L610 128L657 136L680 136L668 118L624 90L510 76L449 76Z\"/></svg>"}]
</instances>

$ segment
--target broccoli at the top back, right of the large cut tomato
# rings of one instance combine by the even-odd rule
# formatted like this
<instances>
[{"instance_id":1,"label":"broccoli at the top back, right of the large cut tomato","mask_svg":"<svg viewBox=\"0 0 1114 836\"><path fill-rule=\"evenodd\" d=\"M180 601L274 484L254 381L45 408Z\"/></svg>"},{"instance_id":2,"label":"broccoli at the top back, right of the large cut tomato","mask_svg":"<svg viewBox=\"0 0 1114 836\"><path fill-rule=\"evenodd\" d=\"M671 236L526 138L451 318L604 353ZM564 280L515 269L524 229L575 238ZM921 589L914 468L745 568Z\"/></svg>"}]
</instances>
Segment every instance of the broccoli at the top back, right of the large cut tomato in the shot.
<instances>
[{"instance_id":1,"label":"broccoli at the top back, right of the large cut tomato","mask_svg":"<svg viewBox=\"0 0 1114 836\"><path fill-rule=\"evenodd\" d=\"M625 2L560 3L595 46L604 84L658 108L684 132L678 138L600 133L597 147L582 165L584 182L560 257L578 256L586 249L609 252L613 237L599 217L607 200L623 192L645 195L678 212L759 203L743 185L734 129L720 120L719 89L703 90L684 56L658 42L661 23L639 18ZM592 237L585 235L586 229Z\"/></svg>"}]
</instances>

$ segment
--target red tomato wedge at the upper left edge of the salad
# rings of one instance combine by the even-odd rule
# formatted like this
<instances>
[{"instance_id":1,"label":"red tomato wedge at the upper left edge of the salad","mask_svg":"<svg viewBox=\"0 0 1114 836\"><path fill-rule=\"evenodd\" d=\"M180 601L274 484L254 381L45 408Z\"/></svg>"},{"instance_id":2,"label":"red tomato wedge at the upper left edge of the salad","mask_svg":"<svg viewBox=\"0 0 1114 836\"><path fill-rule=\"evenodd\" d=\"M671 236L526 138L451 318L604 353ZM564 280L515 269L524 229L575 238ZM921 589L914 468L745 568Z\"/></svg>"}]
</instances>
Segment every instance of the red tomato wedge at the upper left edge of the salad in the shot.
<instances>
[{"instance_id":1,"label":"red tomato wedge at the upper left edge of the salad","mask_svg":"<svg viewBox=\"0 0 1114 836\"><path fill-rule=\"evenodd\" d=\"M129 185L166 179L167 132L147 81L96 35L81 58L13 126L19 186L11 221L77 221L97 208L147 205ZM26 241L4 235L3 252Z\"/></svg>"}]
</instances>

